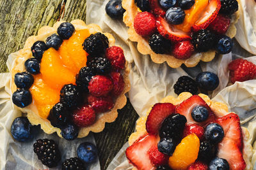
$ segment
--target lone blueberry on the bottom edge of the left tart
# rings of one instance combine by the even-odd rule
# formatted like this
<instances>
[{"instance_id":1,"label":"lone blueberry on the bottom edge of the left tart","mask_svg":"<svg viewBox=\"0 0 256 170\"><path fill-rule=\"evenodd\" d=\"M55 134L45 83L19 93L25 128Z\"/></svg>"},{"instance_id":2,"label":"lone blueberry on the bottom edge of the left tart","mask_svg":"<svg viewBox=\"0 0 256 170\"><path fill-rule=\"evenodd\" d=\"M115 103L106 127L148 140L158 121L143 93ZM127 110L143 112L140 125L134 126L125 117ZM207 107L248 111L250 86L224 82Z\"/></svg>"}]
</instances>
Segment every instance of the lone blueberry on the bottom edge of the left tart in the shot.
<instances>
[{"instance_id":1,"label":"lone blueberry on the bottom edge of the left tart","mask_svg":"<svg viewBox=\"0 0 256 170\"><path fill-rule=\"evenodd\" d=\"M68 124L63 129L61 129L61 136L68 140L72 141L77 138L78 136L78 128L74 124Z\"/></svg>"}]
</instances>

